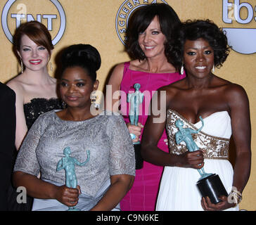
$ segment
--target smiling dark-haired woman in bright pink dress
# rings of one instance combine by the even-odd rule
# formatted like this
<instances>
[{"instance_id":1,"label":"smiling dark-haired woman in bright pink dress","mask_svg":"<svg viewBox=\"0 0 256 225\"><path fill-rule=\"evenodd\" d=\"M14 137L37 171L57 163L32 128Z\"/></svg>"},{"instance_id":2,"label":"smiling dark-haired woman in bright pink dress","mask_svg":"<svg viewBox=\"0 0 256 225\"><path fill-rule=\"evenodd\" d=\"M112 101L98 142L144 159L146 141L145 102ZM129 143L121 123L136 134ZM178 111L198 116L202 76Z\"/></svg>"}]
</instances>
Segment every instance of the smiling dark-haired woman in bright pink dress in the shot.
<instances>
[{"instance_id":1,"label":"smiling dark-haired woman in bright pink dress","mask_svg":"<svg viewBox=\"0 0 256 225\"><path fill-rule=\"evenodd\" d=\"M179 17L167 4L141 6L129 19L126 47L127 53L133 60L120 63L113 70L108 82L112 87L113 99L112 101L106 99L106 108L122 113L129 132L136 135L134 142L141 139L154 92L161 86L185 77L184 74L177 72L168 56L170 51L168 43L172 41L172 32L179 24ZM139 91L144 94L138 126L129 123L129 104L127 103L127 94L134 92L136 83L141 84ZM116 99L116 96L121 98ZM108 105L109 102L112 104ZM165 106L165 102L162 105ZM165 131L158 142L158 148L167 152L164 139L167 139ZM136 170L132 189L121 201L121 210L155 210L161 176L162 167L143 162L143 168Z\"/></svg>"}]
</instances>

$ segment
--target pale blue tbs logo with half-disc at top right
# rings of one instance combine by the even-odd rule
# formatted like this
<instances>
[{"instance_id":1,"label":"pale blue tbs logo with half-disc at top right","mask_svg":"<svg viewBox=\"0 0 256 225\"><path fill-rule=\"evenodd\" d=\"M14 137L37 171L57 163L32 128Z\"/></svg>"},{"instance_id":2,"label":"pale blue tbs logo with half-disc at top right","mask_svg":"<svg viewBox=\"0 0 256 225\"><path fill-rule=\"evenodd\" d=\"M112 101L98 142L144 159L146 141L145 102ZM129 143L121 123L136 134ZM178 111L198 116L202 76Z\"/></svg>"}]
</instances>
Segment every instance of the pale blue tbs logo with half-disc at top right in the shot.
<instances>
[{"instance_id":1,"label":"pale blue tbs logo with half-disc at top right","mask_svg":"<svg viewBox=\"0 0 256 225\"><path fill-rule=\"evenodd\" d=\"M248 2L240 2L240 0L222 0L222 20L226 24L237 22L240 24L255 23L256 6L252 6ZM241 17L241 11L245 15ZM234 51L242 54L256 53L256 29L252 28L229 28L224 27L226 37Z\"/></svg>"}]
</instances>

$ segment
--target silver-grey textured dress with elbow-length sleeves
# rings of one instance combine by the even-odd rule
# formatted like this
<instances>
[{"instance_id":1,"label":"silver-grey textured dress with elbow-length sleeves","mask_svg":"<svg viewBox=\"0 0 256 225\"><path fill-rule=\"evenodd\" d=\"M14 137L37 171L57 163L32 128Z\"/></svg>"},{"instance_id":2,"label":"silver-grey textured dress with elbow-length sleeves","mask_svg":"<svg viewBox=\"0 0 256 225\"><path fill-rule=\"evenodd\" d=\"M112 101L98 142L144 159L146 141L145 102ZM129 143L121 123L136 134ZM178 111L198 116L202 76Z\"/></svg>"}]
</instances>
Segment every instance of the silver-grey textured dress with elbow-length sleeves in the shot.
<instances>
[{"instance_id":1,"label":"silver-grey textured dress with elbow-length sleeves","mask_svg":"<svg viewBox=\"0 0 256 225\"><path fill-rule=\"evenodd\" d=\"M120 115L98 115L74 122L60 120L55 110L39 116L21 146L14 171L26 172L56 185L65 184L64 169L56 172L63 149L70 147L82 195L77 207L89 210L102 198L115 174L135 175L134 148L129 131ZM84 196L84 198L83 198ZM80 200L81 197L81 200ZM66 210L56 200L34 200L32 210ZM67 207L68 208L68 207Z\"/></svg>"}]
</instances>

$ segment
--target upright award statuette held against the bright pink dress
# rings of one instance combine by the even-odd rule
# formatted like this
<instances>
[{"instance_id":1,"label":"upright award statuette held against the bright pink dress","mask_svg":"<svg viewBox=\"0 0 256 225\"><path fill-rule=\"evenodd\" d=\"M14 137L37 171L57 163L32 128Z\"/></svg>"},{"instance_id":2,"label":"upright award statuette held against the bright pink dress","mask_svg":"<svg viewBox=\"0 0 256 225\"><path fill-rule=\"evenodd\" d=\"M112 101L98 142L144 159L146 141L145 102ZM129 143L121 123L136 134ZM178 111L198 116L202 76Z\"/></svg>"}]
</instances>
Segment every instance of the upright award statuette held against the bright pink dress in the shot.
<instances>
[{"instance_id":1,"label":"upright award statuette held against the bright pink dress","mask_svg":"<svg viewBox=\"0 0 256 225\"><path fill-rule=\"evenodd\" d=\"M139 121L139 105L143 101L143 94L139 89L141 88L141 84L134 84L135 92L127 95L127 102L130 104L129 109L129 120L132 125L138 126ZM132 139L135 139L135 134L130 134ZM134 143L134 151L135 151L135 161L136 161L136 169L141 169L143 167L143 158L141 157L141 142L137 141Z\"/></svg>"}]
</instances>

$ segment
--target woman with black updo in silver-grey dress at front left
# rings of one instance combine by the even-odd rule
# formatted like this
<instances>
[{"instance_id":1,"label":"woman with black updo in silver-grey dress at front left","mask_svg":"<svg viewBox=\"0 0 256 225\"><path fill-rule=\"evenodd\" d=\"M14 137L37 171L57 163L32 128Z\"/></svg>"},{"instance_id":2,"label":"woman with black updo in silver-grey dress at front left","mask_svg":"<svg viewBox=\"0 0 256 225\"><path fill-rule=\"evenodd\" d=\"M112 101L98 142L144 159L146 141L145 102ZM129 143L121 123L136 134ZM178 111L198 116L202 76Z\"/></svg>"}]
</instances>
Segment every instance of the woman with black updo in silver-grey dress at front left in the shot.
<instances>
[{"instance_id":1,"label":"woman with black updo in silver-grey dress at front left","mask_svg":"<svg viewBox=\"0 0 256 225\"><path fill-rule=\"evenodd\" d=\"M32 210L120 210L134 181L134 148L120 115L92 113L101 56L93 46L77 44L65 49L62 63L60 96L67 107L34 122L15 162L14 184L34 197ZM75 167L77 188L65 186L64 169L56 171L65 148L79 162L90 153L86 165Z\"/></svg>"}]
</instances>

